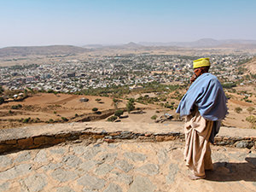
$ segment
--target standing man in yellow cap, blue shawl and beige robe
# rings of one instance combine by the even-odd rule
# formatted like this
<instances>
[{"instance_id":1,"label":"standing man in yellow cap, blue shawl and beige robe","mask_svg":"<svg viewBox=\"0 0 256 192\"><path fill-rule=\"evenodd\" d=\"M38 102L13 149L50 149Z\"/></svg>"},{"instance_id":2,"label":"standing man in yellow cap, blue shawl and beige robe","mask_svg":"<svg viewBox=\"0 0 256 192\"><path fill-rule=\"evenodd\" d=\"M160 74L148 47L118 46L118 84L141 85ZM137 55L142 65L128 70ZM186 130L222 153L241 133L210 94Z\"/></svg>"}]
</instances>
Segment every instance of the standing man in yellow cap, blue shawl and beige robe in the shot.
<instances>
[{"instance_id":1,"label":"standing man in yellow cap, blue shawl and beige robe","mask_svg":"<svg viewBox=\"0 0 256 192\"><path fill-rule=\"evenodd\" d=\"M205 170L213 169L210 143L227 113L227 98L218 79L208 73L210 66L209 58L193 61L192 84L176 111L185 116L184 159L193 180L205 178Z\"/></svg>"}]
</instances>

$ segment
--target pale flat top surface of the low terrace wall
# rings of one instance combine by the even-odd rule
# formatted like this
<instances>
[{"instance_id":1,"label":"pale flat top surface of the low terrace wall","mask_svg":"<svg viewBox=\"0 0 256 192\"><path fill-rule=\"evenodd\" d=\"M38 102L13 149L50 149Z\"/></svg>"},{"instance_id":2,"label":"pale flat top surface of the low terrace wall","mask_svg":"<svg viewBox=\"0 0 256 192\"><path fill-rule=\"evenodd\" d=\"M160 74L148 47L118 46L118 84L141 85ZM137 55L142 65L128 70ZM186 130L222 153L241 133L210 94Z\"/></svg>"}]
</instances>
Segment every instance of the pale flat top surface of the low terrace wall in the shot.
<instances>
[{"instance_id":1,"label":"pale flat top surface of the low terrace wall","mask_svg":"<svg viewBox=\"0 0 256 192\"><path fill-rule=\"evenodd\" d=\"M27 126L12 129L0 130L0 142L18 138L36 137L40 135L55 135L59 133L67 133L72 131L131 131L137 133L168 133L168 132L182 132L183 122L172 121L164 124L147 124L147 123L125 123L125 122L84 122L84 123L67 123L67 124L55 124L55 125L38 125ZM253 129L239 129L221 127L218 136L228 137L256 137L256 130Z\"/></svg>"}]
</instances>

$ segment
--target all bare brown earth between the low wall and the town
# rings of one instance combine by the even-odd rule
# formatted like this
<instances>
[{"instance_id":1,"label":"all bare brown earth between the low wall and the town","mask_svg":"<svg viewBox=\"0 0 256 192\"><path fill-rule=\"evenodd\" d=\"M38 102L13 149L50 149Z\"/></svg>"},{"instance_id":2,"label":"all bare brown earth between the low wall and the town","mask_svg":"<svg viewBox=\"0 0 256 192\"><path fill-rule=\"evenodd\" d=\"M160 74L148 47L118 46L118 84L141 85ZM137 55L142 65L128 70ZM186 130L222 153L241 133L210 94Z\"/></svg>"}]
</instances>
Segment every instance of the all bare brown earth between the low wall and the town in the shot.
<instances>
[{"instance_id":1,"label":"all bare brown earth between the low wall and the town","mask_svg":"<svg viewBox=\"0 0 256 192\"><path fill-rule=\"evenodd\" d=\"M247 90L248 93L252 93L253 96L249 96L248 99L252 102L245 102L244 96L239 95L241 91ZM184 93L183 91L182 94ZM145 93L146 95L152 97L157 96L154 93ZM144 94L144 95L145 95ZM140 95L133 95L132 97L137 98ZM230 96L228 102L229 114L226 119L223 121L223 125L239 128L250 128L250 123L246 121L247 116L251 115L247 108L256 108L256 90L254 86L239 86L236 87L236 93L227 93ZM167 96L167 101L175 102L175 105L178 104L178 101L171 99L169 94ZM88 98L88 102L80 102L81 98ZM101 99L100 102L96 102L96 99ZM12 109L12 106L20 104L22 108ZM118 108L125 108L126 101L120 100ZM159 103L160 104L160 103ZM100 113L92 112L92 108L98 108ZM175 110L168 108L162 108L160 105L148 104L143 105L141 103L136 103L136 108L141 108L143 110L137 110L132 113L125 112L121 119L118 119L120 122L138 122L138 123L152 123L154 120L151 119L152 116L156 115L157 118L160 118L161 115L165 113L170 113L177 119L177 114ZM236 108L241 108L241 113L236 113ZM68 119L68 122L75 121L106 121L110 115L113 114L115 108L113 106L113 99L110 97L101 97L101 96L74 96L67 94L47 94L47 93L38 93L31 97L26 98L22 102L8 102L3 103L0 106L0 128L11 128L11 127L20 127L24 125L34 125L46 124L46 123L60 123L63 122L61 117ZM255 114L256 110L252 114ZM31 118L32 123L22 123L20 119ZM49 119L52 119L49 121ZM175 124L175 121L172 120L172 123Z\"/></svg>"}]
</instances>

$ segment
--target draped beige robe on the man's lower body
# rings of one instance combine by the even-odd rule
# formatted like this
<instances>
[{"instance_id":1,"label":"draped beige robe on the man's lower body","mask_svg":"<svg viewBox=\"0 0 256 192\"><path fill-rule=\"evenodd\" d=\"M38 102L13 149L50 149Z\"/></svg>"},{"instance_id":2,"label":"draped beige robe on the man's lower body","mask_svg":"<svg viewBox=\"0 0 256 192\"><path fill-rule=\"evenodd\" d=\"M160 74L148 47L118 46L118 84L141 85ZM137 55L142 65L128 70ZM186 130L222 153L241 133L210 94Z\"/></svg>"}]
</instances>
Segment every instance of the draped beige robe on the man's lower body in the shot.
<instances>
[{"instance_id":1,"label":"draped beige robe on the man's lower body","mask_svg":"<svg viewBox=\"0 0 256 192\"><path fill-rule=\"evenodd\" d=\"M196 109L186 116L184 159L195 176L205 177L205 170L212 170L211 148L209 137L213 121L204 119Z\"/></svg>"}]
</instances>

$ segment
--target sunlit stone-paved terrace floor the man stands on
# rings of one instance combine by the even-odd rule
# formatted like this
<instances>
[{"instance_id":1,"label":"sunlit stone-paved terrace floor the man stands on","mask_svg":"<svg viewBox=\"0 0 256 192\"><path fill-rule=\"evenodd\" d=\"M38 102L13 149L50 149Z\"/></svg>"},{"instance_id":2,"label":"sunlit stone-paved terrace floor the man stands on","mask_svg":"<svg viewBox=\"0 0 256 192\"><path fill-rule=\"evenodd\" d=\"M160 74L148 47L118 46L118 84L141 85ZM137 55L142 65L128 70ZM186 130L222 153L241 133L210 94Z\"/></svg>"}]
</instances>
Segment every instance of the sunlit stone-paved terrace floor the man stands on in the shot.
<instances>
[{"instance_id":1,"label":"sunlit stone-paved terrace floor the man stands on","mask_svg":"<svg viewBox=\"0 0 256 192\"><path fill-rule=\"evenodd\" d=\"M0 156L0 191L256 191L256 152L212 146L214 171L189 180L183 145L62 143Z\"/></svg>"}]
</instances>

